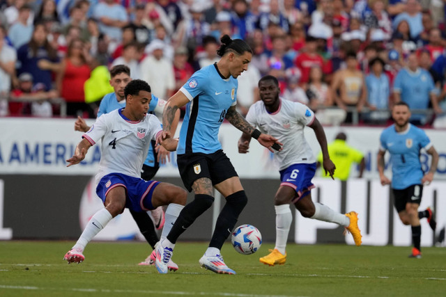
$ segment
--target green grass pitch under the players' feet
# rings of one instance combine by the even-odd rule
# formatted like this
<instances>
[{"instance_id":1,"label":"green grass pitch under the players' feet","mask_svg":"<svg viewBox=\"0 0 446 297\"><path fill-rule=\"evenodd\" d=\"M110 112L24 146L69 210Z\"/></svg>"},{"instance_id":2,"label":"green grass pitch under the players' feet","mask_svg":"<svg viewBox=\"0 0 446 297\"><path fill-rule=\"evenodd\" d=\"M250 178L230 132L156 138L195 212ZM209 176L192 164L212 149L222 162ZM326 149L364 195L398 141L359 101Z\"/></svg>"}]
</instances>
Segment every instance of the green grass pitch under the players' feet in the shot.
<instances>
[{"instance_id":1,"label":"green grass pitch under the players' feet","mask_svg":"<svg viewBox=\"0 0 446 297\"><path fill-rule=\"evenodd\" d=\"M176 273L160 275L138 266L146 243L92 242L86 261L66 264L73 241L0 241L0 296L445 296L446 249L423 248L408 259L409 247L289 244L285 265L266 266L259 252L243 256L229 243L226 264L237 275L199 267L206 243L178 242Z\"/></svg>"}]
</instances>

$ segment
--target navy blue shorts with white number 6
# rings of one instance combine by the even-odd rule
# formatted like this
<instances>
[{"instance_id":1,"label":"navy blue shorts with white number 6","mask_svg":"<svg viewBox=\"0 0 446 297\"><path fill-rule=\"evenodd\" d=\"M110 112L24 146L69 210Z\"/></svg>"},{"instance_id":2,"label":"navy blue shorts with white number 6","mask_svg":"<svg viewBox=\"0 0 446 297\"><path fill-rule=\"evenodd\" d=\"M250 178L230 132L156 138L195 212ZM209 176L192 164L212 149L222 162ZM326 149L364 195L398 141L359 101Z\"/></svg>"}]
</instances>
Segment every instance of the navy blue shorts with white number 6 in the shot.
<instances>
[{"instance_id":1,"label":"navy blue shorts with white number 6","mask_svg":"<svg viewBox=\"0 0 446 297\"><path fill-rule=\"evenodd\" d=\"M294 188L297 197L292 201L297 202L300 198L305 197L314 188L312 179L316 172L316 163L299 163L293 164L284 170L280 170L280 185L291 186Z\"/></svg>"}]
</instances>

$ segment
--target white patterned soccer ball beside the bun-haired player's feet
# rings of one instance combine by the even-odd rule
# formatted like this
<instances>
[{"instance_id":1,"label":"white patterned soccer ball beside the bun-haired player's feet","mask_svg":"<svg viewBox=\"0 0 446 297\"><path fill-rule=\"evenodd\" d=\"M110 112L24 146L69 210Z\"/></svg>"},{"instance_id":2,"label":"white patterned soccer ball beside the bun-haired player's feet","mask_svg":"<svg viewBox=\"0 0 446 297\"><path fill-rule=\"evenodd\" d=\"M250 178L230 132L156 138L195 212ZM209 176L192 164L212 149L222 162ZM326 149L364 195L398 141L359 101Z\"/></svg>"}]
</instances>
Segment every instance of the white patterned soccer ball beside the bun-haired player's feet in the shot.
<instances>
[{"instance_id":1,"label":"white patterned soccer ball beside the bun-haired player's feet","mask_svg":"<svg viewBox=\"0 0 446 297\"><path fill-rule=\"evenodd\" d=\"M232 246L242 255L251 255L259 250L262 244L262 235L252 225L241 225L232 232Z\"/></svg>"}]
</instances>

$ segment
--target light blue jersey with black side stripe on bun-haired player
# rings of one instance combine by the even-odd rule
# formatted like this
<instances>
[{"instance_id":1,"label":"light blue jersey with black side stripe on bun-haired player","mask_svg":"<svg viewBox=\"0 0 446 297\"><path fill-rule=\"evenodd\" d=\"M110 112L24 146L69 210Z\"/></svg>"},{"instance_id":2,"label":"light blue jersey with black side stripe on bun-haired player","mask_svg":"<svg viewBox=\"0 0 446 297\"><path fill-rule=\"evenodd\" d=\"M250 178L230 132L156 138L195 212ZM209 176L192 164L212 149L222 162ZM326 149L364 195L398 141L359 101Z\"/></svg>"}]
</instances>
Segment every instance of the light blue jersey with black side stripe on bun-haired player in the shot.
<instances>
[{"instance_id":1,"label":"light blue jersey with black side stripe on bun-haired player","mask_svg":"<svg viewBox=\"0 0 446 297\"><path fill-rule=\"evenodd\" d=\"M237 103L237 87L237 79L225 79L214 64L195 72L180 88L190 102L180 130L178 154L212 154L222 149L218 131L229 107Z\"/></svg>"}]
</instances>

